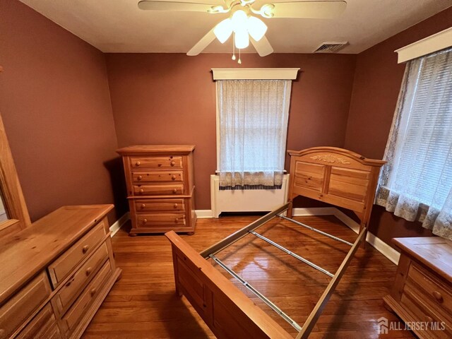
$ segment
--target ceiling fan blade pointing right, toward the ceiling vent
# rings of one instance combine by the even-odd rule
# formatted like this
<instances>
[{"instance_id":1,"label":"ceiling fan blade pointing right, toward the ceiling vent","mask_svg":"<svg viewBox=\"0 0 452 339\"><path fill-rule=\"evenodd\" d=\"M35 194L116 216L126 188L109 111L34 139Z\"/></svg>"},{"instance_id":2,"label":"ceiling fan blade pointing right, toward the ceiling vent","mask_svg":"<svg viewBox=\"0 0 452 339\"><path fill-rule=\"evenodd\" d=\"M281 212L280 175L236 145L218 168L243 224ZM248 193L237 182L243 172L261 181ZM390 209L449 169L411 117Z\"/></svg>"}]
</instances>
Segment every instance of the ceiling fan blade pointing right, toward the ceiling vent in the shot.
<instances>
[{"instance_id":1,"label":"ceiling fan blade pointing right, toward the ceiling vent","mask_svg":"<svg viewBox=\"0 0 452 339\"><path fill-rule=\"evenodd\" d=\"M274 5L273 18L336 18L347 7L345 1L295 1L278 2Z\"/></svg>"}]
</instances>

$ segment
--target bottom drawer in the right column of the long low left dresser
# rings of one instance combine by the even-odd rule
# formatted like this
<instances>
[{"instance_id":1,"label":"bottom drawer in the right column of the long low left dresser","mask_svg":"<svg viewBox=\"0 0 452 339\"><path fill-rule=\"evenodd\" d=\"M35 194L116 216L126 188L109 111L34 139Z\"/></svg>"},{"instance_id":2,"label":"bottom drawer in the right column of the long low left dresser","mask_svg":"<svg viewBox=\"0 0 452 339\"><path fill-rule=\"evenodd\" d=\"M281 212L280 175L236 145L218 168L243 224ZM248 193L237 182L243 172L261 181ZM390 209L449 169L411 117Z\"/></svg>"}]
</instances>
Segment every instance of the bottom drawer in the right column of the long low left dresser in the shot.
<instances>
[{"instance_id":1,"label":"bottom drawer in the right column of the long low left dresser","mask_svg":"<svg viewBox=\"0 0 452 339\"><path fill-rule=\"evenodd\" d=\"M67 311L61 319L61 322L63 323L62 327L66 329L66 332L73 330L85 312L88 311L90 305L93 304L94 300L99 295L99 292L102 290L104 282L110 275L112 275L112 268L109 261L107 261L102 268L100 268L91 283L85 287L81 296L74 302L69 311Z\"/></svg>"}]
</instances>

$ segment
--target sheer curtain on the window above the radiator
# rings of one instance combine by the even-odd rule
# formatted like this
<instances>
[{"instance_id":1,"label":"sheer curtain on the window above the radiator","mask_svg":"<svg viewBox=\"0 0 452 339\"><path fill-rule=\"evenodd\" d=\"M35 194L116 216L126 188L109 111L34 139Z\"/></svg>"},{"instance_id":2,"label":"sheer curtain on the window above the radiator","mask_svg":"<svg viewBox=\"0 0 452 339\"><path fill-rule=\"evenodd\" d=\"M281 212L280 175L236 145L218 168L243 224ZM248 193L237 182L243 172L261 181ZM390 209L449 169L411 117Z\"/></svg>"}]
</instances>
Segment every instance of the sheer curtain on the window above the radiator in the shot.
<instances>
[{"instance_id":1,"label":"sheer curtain on the window above the radiator","mask_svg":"<svg viewBox=\"0 0 452 339\"><path fill-rule=\"evenodd\" d=\"M217 81L220 186L283 180L292 81Z\"/></svg>"}]
</instances>

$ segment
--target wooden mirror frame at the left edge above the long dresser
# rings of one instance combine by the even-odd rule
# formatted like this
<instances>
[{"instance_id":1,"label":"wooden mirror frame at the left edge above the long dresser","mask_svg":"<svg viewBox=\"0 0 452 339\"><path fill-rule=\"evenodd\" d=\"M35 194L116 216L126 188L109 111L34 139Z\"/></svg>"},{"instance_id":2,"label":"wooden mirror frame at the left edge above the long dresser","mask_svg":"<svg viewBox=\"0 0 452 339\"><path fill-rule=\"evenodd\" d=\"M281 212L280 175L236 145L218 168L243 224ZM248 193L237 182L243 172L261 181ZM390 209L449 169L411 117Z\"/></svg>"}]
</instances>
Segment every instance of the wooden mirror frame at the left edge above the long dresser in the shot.
<instances>
[{"instance_id":1,"label":"wooden mirror frame at the left edge above the long dresser","mask_svg":"<svg viewBox=\"0 0 452 339\"><path fill-rule=\"evenodd\" d=\"M30 227L30 215L0 115L0 189L8 220L0 222L0 237Z\"/></svg>"}]
</instances>

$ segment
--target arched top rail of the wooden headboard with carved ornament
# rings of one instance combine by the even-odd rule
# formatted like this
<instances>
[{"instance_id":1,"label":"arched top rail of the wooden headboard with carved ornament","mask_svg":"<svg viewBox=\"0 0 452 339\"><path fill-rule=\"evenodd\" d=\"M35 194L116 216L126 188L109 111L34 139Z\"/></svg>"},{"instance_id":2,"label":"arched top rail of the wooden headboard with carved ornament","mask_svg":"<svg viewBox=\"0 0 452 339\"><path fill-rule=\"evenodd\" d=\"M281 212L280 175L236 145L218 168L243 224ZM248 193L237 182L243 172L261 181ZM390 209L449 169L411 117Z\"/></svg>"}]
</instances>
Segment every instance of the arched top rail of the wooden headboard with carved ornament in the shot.
<instances>
[{"instance_id":1,"label":"arched top rail of the wooden headboard with carved ornament","mask_svg":"<svg viewBox=\"0 0 452 339\"><path fill-rule=\"evenodd\" d=\"M319 162L340 167L348 167L344 165L351 165L354 162L372 167L381 167L386 163L384 160L369 159L351 150L329 146L311 147L304 150L287 150L287 153L292 157L307 157L309 162Z\"/></svg>"}]
</instances>

